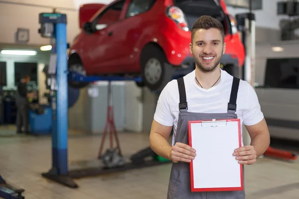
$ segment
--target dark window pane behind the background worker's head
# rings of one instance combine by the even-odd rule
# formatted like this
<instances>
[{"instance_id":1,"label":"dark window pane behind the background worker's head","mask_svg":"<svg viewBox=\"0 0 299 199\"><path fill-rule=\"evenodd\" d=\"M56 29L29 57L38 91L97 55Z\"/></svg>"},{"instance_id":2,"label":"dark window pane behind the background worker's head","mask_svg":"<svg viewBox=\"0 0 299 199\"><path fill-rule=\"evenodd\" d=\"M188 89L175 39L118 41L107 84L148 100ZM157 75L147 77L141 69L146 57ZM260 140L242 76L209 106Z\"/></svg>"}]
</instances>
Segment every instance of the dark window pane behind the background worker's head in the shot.
<instances>
[{"instance_id":1,"label":"dark window pane behind the background worker's head","mask_svg":"<svg viewBox=\"0 0 299 199\"><path fill-rule=\"evenodd\" d=\"M37 85L37 63L14 62L14 85L18 85L24 75L29 75L30 83Z\"/></svg>"}]
</instances>

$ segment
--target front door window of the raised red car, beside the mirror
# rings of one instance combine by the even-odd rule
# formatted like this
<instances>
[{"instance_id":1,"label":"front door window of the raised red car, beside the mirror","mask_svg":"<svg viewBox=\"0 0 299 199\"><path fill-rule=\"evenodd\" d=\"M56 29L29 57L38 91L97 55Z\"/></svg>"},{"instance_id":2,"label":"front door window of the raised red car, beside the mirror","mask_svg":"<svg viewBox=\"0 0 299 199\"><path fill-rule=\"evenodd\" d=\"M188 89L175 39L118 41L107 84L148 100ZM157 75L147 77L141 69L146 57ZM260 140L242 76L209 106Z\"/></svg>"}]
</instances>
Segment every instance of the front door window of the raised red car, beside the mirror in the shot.
<instances>
[{"instance_id":1,"label":"front door window of the raised red car, beside the mirror","mask_svg":"<svg viewBox=\"0 0 299 199\"><path fill-rule=\"evenodd\" d=\"M98 16L97 24L109 25L117 22L120 19L124 3L125 1L122 0L108 7Z\"/></svg>"}]
</instances>

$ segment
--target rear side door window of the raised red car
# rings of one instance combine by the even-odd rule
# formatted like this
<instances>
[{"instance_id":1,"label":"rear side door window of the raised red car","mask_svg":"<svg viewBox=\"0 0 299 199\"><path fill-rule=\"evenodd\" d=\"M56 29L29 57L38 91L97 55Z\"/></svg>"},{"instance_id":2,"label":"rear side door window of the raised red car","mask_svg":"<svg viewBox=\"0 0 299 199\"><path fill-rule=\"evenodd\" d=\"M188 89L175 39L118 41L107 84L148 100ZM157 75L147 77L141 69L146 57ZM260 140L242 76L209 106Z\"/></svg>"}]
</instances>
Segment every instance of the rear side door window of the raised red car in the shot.
<instances>
[{"instance_id":1,"label":"rear side door window of the raised red car","mask_svg":"<svg viewBox=\"0 0 299 199\"><path fill-rule=\"evenodd\" d=\"M132 0L126 16L130 17L146 12L152 7L154 2L155 0Z\"/></svg>"}]
</instances>

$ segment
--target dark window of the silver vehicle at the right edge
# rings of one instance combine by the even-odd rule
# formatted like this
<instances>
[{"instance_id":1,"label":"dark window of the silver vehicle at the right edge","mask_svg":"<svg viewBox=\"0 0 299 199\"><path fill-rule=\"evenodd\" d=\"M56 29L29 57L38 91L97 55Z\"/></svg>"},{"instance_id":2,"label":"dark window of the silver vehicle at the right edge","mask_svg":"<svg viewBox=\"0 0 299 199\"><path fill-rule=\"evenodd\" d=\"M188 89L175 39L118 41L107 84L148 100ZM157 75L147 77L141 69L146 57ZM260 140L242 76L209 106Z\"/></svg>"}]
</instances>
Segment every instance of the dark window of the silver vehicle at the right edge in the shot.
<instances>
[{"instance_id":1,"label":"dark window of the silver vehicle at the right edge","mask_svg":"<svg viewBox=\"0 0 299 199\"><path fill-rule=\"evenodd\" d=\"M299 89L299 58L268 59L265 87Z\"/></svg>"}]
</instances>

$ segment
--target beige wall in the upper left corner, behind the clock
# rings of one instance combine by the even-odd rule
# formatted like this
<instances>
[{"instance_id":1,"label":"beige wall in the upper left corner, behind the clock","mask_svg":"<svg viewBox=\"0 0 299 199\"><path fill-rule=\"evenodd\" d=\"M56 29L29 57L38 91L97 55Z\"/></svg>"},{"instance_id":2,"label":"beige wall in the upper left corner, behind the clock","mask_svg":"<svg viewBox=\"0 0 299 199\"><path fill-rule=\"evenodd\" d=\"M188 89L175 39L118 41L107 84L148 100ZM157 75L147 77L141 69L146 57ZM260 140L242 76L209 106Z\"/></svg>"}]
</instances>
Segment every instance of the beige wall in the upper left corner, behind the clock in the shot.
<instances>
[{"instance_id":1,"label":"beige wall in the upper left corner, behind the clock","mask_svg":"<svg viewBox=\"0 0 299 199\"><path fill-rule=\"evenodd\" d=\"M17 28L28 28L28 44L49 44L49 39L38 33L38 17L41 12L52 12L54 7L57 12L67 14L67 41L71 43L79 33L78 11L73 0L0 0L0 43L16 43Z\"/></svg>"}]
</instances>

